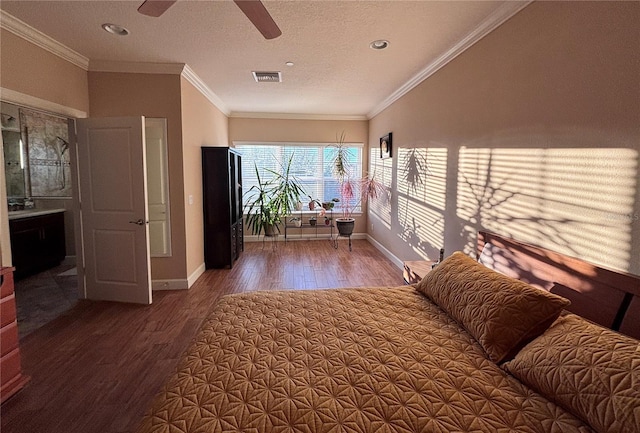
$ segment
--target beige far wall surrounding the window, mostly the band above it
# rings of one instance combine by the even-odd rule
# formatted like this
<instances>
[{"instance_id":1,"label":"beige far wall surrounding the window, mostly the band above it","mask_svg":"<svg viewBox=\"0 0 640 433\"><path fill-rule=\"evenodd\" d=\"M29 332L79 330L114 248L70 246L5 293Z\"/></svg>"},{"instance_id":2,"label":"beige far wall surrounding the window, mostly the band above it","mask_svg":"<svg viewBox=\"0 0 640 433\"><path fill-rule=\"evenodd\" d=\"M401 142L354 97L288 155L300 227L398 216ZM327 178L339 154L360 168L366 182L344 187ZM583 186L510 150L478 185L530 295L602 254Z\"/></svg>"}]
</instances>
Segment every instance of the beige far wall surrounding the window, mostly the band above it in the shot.
<instances>
[{"instance_id":1,"label":"beige far wall surrounding the window, mostly the band above it","mask_svg":"<svg viewBox=\"0 0 640 433\"><path fill-rule=\"evenodd\" d=\"M369 141L366 120L287 120L251 119L232 117L229 119L229 139L234 141L273 141L335 143L336 134L345 132L345 141L366 143ZM363 155L364 170L368 167L368 155ZM243 167L244 170L251 167ZM364 233L367 227L366 212L356 218L354 233ZM247 233L250 235L251 233Z\"/></svg>"}]
</instances>

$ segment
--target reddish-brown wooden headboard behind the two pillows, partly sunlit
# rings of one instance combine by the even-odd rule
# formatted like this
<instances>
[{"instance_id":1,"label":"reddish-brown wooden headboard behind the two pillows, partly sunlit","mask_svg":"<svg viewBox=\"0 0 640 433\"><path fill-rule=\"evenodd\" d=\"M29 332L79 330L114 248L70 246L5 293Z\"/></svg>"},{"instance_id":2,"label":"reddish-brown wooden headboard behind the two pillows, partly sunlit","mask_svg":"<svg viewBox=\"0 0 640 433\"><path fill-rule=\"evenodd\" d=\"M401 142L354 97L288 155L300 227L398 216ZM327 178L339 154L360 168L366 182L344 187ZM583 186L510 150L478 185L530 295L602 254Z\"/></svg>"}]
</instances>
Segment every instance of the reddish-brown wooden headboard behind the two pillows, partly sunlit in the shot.
<instances>
[{"instance_id":1,"label":"reddish-brown wooden headboard behind the two pillows, partly sunlit","mask_svg":"<svg viewBox=\"0 0 640 433\"><path fill-rule=\"evenodd\" d=\"M564 296L572 313L640 339L640 276L485 231L478 233L478 261Z\"/></svg>"}]
</instances>

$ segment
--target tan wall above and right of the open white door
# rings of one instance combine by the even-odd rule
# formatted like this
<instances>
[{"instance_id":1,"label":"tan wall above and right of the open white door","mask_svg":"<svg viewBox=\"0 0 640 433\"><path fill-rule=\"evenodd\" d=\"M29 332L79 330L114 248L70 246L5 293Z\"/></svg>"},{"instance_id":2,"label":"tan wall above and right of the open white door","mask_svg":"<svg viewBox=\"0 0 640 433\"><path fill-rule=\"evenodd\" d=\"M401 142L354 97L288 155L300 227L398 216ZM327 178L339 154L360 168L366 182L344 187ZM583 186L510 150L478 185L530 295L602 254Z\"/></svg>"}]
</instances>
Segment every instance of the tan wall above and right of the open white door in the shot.
<instances>
[{"instance_id":1,"label":"tan wall above and right of the open white door","mask_svg":"<svg viewBox=\"0 0 640 433\"><path fill-rule=\"evenodd\" d=\"M154 280L185 279L188 276L180 83L177 74L89 72L92 117L167 119L172 256L151 259L151 278Z\"/></svg>"}]
</instances>

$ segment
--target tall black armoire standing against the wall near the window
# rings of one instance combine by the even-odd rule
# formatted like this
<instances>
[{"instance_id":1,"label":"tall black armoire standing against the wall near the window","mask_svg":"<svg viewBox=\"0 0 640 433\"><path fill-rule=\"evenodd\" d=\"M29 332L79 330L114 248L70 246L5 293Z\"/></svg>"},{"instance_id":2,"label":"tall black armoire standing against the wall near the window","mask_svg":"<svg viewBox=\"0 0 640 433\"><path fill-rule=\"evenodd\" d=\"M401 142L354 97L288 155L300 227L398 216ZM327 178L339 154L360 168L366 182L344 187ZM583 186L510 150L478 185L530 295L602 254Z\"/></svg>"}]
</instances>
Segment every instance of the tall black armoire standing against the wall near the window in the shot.
<instances>
[{"instance_id":1,"label":"tall black armoire standing against the wall near the window","mask_svg":"<svg viewBox=\"0 0 640 433\"><path fill-rule=\"evenodd\" d=\"M203 147L202 183L205 266L231 268L244 248L240 154L228 147Z\"/></svg>"}]
</instances>

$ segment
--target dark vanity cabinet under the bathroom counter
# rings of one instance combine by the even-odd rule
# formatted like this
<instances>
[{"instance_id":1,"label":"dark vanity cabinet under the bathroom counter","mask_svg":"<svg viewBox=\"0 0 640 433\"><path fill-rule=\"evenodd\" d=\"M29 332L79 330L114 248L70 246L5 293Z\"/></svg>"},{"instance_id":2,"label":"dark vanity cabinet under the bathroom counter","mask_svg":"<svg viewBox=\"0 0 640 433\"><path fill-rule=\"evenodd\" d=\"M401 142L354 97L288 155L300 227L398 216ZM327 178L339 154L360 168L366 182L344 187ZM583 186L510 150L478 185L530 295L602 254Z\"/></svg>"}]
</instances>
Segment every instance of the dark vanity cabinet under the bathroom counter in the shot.
<instances>
[{"instance_id":1,"label":"dark vanity cabinet under the bathroom counter","mask_svg":"<svg viewBox=\"0 0 640 433\"><path fill-rule=\"evenodd\" d=\"M64 213L9 220L16 279L57 266L64 260Z\"/></svg>"}]
</instances>

